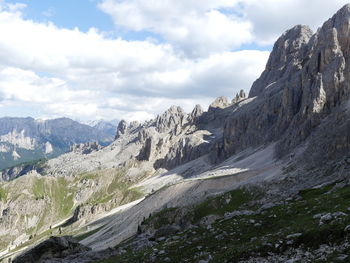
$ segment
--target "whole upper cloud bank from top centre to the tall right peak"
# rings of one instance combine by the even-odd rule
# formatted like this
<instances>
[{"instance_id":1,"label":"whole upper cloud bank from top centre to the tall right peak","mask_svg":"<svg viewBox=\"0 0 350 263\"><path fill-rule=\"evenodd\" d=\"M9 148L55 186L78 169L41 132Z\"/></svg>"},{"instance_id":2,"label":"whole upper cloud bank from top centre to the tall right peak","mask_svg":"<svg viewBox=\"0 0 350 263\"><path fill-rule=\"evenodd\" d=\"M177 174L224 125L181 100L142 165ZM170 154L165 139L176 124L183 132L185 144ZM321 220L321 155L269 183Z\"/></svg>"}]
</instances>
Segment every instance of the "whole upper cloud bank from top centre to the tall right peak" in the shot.
<instances>
[{"instance_id":1,"label":"whole upper cloud bank from top centre to the tall right peak","mask_svg":"<svg viewBox=\"0 0 350 263\"><path fill-rule=\"evenodd\" d=\"M317 29L348 0L103 0L117 28L151 31L184 51L205 56L243 44L271 45L297 24Z\"/></svg>"}]
</instances>

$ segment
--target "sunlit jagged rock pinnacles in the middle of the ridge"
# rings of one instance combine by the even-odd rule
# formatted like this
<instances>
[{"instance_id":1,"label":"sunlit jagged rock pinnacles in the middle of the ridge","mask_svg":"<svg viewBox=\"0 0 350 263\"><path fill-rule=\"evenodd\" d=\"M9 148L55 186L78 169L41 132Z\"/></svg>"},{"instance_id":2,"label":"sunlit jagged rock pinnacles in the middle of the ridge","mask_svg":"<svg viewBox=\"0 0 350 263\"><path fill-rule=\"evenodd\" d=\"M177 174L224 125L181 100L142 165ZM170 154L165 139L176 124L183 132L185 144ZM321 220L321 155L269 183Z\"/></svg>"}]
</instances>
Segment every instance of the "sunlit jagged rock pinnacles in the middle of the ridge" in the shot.
<instances>
[{"instance_id":1,"label":"sunlit jagged rock pinnacles in the middle of the ridge","mask_svg":"<svg viewBox=\"0 0 350 263\"><path fill-rule=\"evenodd\" d=\"M205 155L212 143L208 141L211 133L197 126L203 115L199 105L190 114L170 107L139 131L142 147L137 159L154 163L155 169L171 169Z\"/></svg>"}]
</instances>

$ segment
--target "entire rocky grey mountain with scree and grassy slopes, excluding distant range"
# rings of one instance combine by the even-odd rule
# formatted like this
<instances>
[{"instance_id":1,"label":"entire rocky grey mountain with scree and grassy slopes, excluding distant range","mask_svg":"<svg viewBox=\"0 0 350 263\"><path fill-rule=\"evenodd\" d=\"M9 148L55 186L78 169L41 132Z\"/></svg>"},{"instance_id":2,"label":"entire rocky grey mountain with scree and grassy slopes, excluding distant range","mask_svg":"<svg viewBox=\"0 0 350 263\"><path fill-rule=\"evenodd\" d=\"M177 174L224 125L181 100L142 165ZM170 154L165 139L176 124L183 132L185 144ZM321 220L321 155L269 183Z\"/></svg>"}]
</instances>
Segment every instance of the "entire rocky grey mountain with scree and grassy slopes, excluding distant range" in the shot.
<instances>
[{"instance_id":1,"label":"entire rocky grey mountain with scree and grassy slopes, excluding distant range","mask_svg":"<svg viewBox=\"0 0 350 263\"><path fill-rule=\"evenodd\" d=\"M0 259L347 262L349 39L346 5L287 30L248 96L120 121L1 183Z\"/></svg>"}]
</instances>

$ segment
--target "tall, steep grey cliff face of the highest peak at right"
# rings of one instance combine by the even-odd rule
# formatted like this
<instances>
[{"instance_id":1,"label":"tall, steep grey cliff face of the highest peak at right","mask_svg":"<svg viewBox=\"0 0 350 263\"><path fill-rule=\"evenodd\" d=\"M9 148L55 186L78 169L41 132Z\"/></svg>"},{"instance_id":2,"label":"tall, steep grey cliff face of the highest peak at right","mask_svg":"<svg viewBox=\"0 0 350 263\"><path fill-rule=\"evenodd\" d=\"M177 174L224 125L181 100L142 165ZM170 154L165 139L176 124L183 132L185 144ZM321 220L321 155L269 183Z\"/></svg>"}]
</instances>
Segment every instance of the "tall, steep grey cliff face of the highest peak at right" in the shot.
<instances>
[{"instance_id":1,"label":"tall, steep grey cliff face of the highest peak at right","mask_svg":"<svg viewBox=\"0 0 350 263\"><path fill-rule=\"evenodd\" d=\"M283 156L331 113L340 111L333 117L348 122L348 113L340 108L348 107L350 94L349 34L350 5L315 34L305 26L284 33L252 86L252 101L226 120L219 156L272 141L279 141L277 154ZM348 134L344 149L349 149Z\"/></svg>"}]
</instances>

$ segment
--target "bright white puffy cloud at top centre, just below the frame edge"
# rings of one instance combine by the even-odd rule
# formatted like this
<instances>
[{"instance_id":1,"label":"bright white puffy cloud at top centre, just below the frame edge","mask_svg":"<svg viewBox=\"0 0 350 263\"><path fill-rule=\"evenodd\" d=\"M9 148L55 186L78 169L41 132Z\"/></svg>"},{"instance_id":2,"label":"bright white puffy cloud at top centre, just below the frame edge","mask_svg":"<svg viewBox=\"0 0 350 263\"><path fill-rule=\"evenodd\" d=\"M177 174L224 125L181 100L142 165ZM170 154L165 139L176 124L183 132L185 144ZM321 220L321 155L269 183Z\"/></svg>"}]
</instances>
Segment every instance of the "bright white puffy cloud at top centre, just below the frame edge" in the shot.
<instances>
[{"instance_id":1,"label":"bright white puffy cloud at top centre, just below the frame edge","mask_svg":"<svg viewBox=\"0 0 350 263\"><path fill-rule=\"evenodd\" d=\"M189 56L205 56L238 48L253 39L251 24L220 8L238 1L105 0L100 8L118 27L161 35Z\"/></svg>"}]
</instances>

